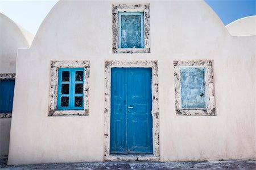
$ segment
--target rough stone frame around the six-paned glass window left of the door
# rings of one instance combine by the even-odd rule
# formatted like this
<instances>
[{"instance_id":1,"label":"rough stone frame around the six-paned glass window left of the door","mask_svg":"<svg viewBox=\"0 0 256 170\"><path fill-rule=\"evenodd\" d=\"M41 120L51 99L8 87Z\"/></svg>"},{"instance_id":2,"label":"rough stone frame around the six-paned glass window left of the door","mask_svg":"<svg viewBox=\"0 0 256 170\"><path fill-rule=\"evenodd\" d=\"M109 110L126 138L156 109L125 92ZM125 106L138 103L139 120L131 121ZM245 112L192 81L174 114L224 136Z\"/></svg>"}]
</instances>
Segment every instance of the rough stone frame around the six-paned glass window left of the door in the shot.
<instances>
[{"instance_id":1,"label":"rough stone frame around the six-paned glass window left of the door","mask_svg":"<svg viewBox=\"0 0 256 170\"><path fill-rule=\"evenodd\" d=\"M59 68L84 68L84 109L57 110ZM87 116L89 115L89 75L90 61L51 61L48 116Z\"/></svg>"}]
</instances>

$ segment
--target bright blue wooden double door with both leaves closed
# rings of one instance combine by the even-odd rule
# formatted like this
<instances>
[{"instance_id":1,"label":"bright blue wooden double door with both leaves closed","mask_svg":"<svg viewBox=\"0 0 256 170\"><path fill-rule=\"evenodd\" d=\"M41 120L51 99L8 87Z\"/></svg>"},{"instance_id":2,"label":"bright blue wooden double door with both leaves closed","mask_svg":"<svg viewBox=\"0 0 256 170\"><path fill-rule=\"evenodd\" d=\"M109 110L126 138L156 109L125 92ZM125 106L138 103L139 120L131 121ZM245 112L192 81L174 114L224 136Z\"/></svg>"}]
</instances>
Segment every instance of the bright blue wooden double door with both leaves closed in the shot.
<instances>
[{"instance_id":1,"label":"bright blue wooden double door with both leaves closed","mask_svg":"<svg viewBox=\"0 0 256 170\"><path fill-rule=\"evenodd\" d=\"M151 68L112 68L110 154L152 154Z\"/></svg>"}]
</instances>

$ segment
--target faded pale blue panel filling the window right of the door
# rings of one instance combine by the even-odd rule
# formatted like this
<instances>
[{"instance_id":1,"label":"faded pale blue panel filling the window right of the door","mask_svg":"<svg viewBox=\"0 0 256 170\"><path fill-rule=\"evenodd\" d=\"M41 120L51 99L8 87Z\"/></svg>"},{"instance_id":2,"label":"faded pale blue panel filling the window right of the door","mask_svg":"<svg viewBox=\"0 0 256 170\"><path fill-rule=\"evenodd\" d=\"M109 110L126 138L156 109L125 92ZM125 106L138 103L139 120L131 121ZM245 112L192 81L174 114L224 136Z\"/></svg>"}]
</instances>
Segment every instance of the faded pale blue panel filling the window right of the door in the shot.
<instances>
[{"instance_id":1,"label":"faded pale blue panel filling the window right of the door","mask_svg":"<svg viewBox=\"0 0 256 170\"><path fill-rule=\"evenodd\" d=\"M205 108L204 68L181 68L181 107Z\"/></svg>"}]
</instances>

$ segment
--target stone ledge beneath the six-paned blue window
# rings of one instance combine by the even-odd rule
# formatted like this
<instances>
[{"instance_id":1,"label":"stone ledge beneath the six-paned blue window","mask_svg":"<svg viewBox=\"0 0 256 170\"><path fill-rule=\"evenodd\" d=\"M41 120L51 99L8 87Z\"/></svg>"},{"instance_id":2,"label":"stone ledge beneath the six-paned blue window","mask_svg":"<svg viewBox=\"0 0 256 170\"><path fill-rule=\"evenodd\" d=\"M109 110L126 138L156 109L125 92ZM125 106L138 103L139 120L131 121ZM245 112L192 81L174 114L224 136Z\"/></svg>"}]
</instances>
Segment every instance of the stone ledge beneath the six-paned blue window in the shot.
<instances>
[{"instance_id":1,"label":"stone ledge beneath the six-paned blue window","mask_svg":"<svg viewBox=\"0 0 256 170\"><path fill-rule=\"evenodd\" d=\"M48 116L87 116L89 110L52 110Z\"/></svg>"}]
</instances>

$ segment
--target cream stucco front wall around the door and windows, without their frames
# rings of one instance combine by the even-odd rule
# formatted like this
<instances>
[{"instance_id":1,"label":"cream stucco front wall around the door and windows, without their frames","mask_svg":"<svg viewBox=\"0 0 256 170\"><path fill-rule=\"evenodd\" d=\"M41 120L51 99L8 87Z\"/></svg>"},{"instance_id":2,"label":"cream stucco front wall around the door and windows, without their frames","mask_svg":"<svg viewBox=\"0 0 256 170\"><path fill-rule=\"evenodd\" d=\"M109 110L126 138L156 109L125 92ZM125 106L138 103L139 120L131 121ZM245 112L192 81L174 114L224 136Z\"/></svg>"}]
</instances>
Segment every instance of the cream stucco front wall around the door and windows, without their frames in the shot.
<instances>
[{"instance_id":1,"label":"cream stucco front wall around the door and windows, without their frames","mask_svg":"<svg viewBox=\"0 0 256 170\"><path fill-rule=\"evenodd\" d=\"M113 3L58 2L18 51L9 164L104 160L109 60L158 61L160 161L255 159L255 36L230 36L203 1L150 1L151 52L113 54ZM48 117L54 60L90 61L89 116ZM214 61L217 116L176 115L174 60Z\"/></svg>"}]
</instances>

